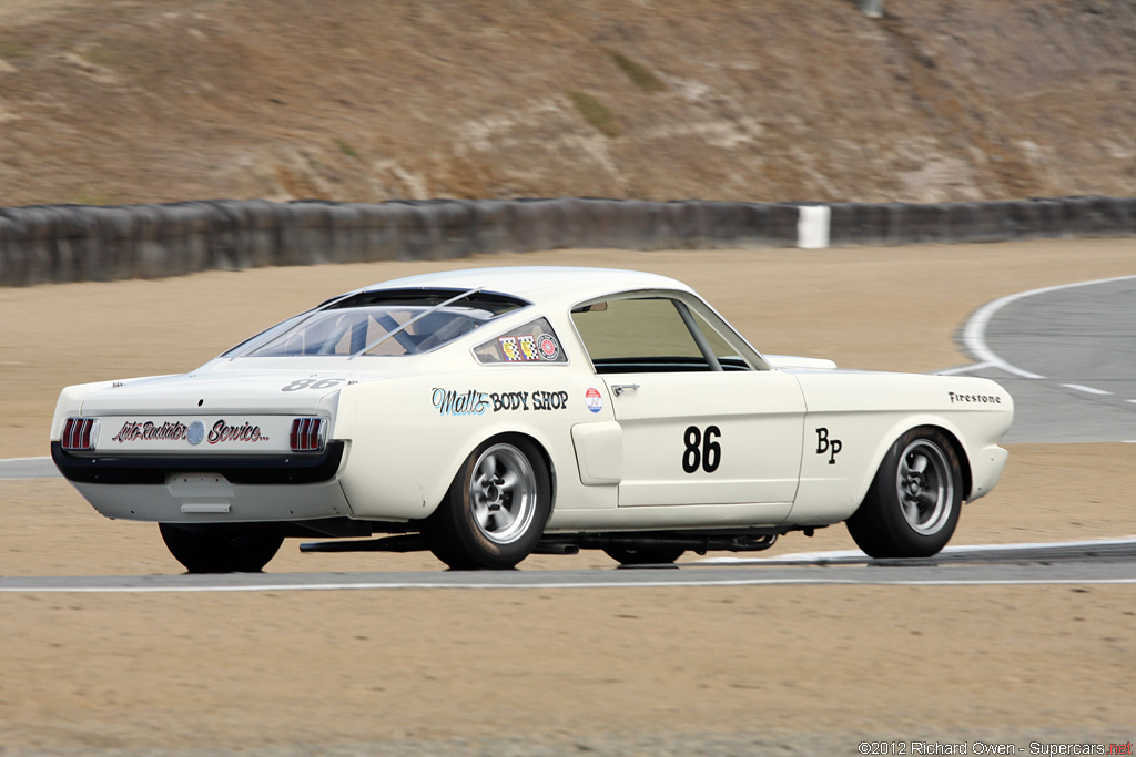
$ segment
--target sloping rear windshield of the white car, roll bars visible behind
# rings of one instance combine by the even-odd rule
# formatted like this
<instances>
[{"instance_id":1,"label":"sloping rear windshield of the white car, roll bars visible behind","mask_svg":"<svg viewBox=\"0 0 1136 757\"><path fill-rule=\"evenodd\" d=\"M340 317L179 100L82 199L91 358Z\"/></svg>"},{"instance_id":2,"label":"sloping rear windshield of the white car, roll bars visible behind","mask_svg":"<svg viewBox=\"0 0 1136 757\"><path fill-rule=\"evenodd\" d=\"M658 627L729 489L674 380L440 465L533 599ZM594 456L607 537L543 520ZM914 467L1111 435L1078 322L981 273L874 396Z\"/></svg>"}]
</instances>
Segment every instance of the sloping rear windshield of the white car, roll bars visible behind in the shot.
<instances>
[{"instance_id":1,"label":"sloping rear windshield of the white car, roll bars visible behind","mask_svg":"<svg viewBox=\"0 0 1136 757\"><path fill-rule=\"evenodd\" d=\"M223 356L414 355L527 304L508 295L460 289L364 292L278 323Z\"/></svg>"}]
</instances>

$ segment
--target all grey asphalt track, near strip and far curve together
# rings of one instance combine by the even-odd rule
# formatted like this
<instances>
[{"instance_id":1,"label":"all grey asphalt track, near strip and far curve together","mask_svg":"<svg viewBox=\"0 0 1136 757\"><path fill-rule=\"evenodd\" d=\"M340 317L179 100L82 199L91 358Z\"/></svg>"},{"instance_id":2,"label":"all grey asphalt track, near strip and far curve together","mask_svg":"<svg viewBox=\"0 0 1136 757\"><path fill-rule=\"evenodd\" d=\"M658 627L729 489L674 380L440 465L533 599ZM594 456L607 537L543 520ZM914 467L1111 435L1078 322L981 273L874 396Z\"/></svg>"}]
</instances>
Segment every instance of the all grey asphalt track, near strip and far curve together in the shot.
<instances>
[{"instance_id":1,"label":"all grey asphalt track, near strip and far curve together","mask_svg":"<svg viewBox=\"0 0 1136 757\"><path fill-rule=\"evenodd\" d=\"M960 339L975 363L939 371L992 378L1013 396L1010 443L1136 443L1136 276L1009 295L980 308ZM58 476L50 459L0 461L0 480ZM284 591L755 584L1136 583L1136 538L947 547L929 560L819 553L591 571L285 573L0 579L7 591Z\"/></svg>"}]
</instances>

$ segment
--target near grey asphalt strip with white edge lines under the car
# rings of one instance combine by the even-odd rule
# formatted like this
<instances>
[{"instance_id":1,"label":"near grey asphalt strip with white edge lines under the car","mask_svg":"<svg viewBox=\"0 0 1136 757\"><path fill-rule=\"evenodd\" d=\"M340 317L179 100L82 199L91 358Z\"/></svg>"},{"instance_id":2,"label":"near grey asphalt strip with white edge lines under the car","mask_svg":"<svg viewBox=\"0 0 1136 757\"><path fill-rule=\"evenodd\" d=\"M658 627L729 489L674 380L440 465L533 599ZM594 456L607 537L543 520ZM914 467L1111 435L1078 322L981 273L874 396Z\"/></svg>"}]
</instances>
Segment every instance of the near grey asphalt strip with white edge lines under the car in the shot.
<instances>
[{"instance_id":1,"label":"near grey asphalt strip with white edge lines under the car","mask_svg":"<svg viewBox=\"0 0 1136 757\"><path fill-rule=\"evenodd\" d=\"M1136 537L1058 545L949 547L927 560L818 553L587 571L236 573L0 579L0 592L200 592L345 589L604 589L786 584L1136 583Z\"/></svg>"}]
</instances>

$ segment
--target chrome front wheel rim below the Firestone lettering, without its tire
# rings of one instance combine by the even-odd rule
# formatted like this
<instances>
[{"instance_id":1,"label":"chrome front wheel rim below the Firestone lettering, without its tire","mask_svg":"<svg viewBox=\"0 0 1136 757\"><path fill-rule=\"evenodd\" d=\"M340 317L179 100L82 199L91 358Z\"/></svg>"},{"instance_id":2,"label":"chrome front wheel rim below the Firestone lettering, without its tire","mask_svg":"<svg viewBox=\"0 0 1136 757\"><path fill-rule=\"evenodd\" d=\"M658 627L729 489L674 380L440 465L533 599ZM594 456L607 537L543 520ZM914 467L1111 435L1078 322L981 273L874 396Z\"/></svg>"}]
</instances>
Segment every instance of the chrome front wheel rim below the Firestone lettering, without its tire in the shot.
<instances>
[{"instance_id":1,"label":"chrome front wheel rim below the Firestone lettering, without its tire","mask_svg":"<svg viewBox=\"0 0 1136 757\"><path fill-rule=\"evenodd\" d=\"M929 439L909 444L895 471L903 519L917 533L937 533L954 507L954 476L946 455Z\"/></svg>"}]
</instances>

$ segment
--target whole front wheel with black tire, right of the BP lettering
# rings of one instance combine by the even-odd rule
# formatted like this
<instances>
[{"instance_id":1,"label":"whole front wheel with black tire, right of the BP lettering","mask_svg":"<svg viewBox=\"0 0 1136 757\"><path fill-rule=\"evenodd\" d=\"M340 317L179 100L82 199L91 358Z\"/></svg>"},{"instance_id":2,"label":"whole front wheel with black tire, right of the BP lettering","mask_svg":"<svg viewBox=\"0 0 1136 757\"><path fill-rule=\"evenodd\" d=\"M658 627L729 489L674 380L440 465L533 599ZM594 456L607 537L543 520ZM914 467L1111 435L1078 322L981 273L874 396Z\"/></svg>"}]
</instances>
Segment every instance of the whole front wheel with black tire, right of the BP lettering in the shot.
<instances>
[{"instance_id":1,"label":"whole front wheel with black tire, right of the BP lettering","mask_svg":"<svg viewBox=\"0 0 1136 757\"><path fill-rule=\"evenodd\" d=\"M962 510L962 470L939 429L911 429L892 445L849 533L877 560L930 557L946 546Z\"/></svg>"}]
</instances>

